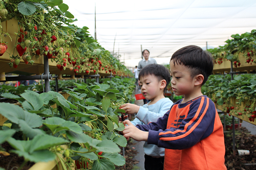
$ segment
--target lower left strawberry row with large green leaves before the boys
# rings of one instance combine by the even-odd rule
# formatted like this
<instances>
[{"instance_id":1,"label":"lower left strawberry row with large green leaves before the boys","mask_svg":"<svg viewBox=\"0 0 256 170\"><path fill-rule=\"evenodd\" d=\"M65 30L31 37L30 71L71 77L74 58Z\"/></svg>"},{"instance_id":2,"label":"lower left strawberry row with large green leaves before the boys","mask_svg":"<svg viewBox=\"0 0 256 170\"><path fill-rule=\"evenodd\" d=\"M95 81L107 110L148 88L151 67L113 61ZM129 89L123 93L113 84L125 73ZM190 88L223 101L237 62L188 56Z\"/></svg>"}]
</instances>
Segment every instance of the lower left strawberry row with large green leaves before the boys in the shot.
<instances>
[{"instance_id":1,"label":"lower left strawberry row with large green leaves before the boys","mask_svg":"<svg viewBox=\"0 0 256 170\"><path fill-rule=\"evenodd\" d=\"M118 118L124 110L119 106L129 99L130 89L114 81L106 83L75 83L75 88L63 90L70 95L68 100L54 91L3 93L22 107L0 103L0 113L8 118L6 126L0 127L0 143L8 142L13 147L11 152L23 156L25 163L50 161L57 156L64 169L71 169L73 160L86 165L84 169L122 166L125 159L118 154L118 145L125 147L126 139L119 135L124 129ZM53 109L54 104L57 107ZM68 148L63 149L61 144Z\"/></svg>"}]
</instances>

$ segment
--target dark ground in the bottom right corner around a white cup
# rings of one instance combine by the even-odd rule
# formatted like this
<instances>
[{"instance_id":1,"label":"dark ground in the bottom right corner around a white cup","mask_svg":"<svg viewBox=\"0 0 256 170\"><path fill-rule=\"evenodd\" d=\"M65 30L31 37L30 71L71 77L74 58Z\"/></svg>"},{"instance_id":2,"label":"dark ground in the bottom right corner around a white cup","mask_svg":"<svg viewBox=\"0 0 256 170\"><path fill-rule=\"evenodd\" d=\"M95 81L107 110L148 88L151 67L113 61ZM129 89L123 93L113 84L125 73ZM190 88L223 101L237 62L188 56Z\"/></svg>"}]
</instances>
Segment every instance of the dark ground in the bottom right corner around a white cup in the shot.
<instances>
[{"instance_id":1,"label":"dark ground in the bottom right corner around a white cup","mask_svg":"<svg viewBox=\"0 0 256 170\"><path fill-rule=\"evenodd\" d=\"M256 165L245 165L246 163L256 163L256 135L251 135L246 128L241 127L236 131L236 154L233 156L232 131L225 133L225 165L227 169L256 169ZM249 150L249 155L239 156L237 150Z\"/></svg>"}]
</instances>

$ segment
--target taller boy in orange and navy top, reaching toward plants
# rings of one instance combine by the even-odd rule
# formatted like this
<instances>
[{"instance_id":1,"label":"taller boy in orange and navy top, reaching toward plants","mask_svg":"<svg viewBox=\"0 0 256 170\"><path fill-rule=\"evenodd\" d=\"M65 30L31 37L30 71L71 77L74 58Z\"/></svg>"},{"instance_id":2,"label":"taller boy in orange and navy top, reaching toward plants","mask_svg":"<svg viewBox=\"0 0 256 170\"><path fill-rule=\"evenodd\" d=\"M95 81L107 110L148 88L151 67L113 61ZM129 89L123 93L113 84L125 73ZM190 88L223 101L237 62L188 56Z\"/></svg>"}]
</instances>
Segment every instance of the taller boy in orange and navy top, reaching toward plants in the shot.
<instances>
[{"instance_id":1,"label":"taller boy in orange and navy top, reaching toward plants","mask_svg":"<svg viewBox=\"0 0 256 170\"><path fill-rule=\"evenodd\" d=\"M215 104L201 92L213 67L212 57L199 46L176 51L170 59L171 84L184 99L155 123L135 127L125 120L124 137L165 148L164 169L227 169L220 117Z\"/></svg>"}]
</instances>

